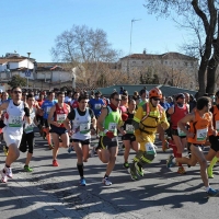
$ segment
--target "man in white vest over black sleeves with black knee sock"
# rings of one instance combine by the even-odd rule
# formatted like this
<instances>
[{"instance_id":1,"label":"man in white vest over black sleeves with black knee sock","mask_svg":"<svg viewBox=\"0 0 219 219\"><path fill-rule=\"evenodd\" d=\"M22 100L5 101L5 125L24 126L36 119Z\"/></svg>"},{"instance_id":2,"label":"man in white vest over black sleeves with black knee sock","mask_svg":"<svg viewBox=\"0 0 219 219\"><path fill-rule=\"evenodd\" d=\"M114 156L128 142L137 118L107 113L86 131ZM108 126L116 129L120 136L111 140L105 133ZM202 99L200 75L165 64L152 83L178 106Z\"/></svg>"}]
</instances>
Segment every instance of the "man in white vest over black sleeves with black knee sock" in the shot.
<instances>
[{"instance_id":1,"label":"man in white vest over black sleeves with black knee sock","mask_svg":"<svg viewBox=\"0 0 219 219\"><path fill-rule=\"evenodd\" d=\"M88 107L89 96L80 95L78 102L79 106L68 114L64 126L71 136L72 146L78 158L79 183L81 186L85 186L83 162L87 162L89 158L91 134L96 131L96 119L93 111ZM70 127L71 123L72 127Z\"/></svg>"}]
</instances>

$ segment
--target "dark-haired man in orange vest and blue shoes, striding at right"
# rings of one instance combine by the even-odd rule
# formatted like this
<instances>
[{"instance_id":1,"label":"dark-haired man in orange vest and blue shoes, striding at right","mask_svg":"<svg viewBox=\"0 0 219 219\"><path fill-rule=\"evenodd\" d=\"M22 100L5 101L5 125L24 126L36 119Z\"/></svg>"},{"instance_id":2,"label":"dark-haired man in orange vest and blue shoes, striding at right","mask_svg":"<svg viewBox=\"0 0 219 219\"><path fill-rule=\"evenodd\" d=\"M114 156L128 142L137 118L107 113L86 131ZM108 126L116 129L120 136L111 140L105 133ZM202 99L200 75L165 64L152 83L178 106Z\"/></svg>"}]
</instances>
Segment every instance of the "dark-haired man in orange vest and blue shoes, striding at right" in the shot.
<instances>
[{"instance_id":1,"label":"dark-haired man in orange vest and blue shoes, striding at right","mask_svg":"<svg viewBox=\"0 0 219 219\"><path fill-rule=\"evenodd\" d=\"M203 96L197 101L196 111L194 113L187 114L184 118L178 122L178 127L187 136L187 142L189 143L192 157L188 158L174 158L170 155L166 166L171 168L175 165L176 162L195 165L198 161L200 165L200 176L205 185L205 189L208 196L216 196L219 191L214 189L209 185L208 174L207 174L207 161L203 153L201 148L206 142L208 132L217 136L217 130L212 127L212 115L209 112L211 107L211 100L209 97ZM189 123L189 130L185 128L185 125Z\"/></svg>"}]
</instances>

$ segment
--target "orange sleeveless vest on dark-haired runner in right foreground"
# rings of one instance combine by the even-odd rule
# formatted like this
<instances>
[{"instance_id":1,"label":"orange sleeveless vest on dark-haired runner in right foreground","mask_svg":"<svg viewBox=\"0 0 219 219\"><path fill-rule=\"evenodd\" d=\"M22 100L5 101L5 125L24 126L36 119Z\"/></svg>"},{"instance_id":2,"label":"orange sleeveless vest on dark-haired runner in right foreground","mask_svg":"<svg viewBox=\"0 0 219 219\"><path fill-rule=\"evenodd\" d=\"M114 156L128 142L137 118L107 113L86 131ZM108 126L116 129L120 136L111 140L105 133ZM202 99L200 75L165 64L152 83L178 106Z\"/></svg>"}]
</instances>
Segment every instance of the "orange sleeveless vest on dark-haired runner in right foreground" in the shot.
<instances>
[{"instance_id":1,"label":"orange sleeveless vest on dark-haired runner in right foreground","mask_svg":"<svg viewBox=\"0 0 219 219\"><path fill-rule=\"evenodd\" d=\"M189 132L195 134L193 138L187 138L189 143L205 143L208 136L208 126L210 124L210 115L206 113L200 117L199 113L195 112L195 122L189 123Z\"/></svg>"}]
</instances>

